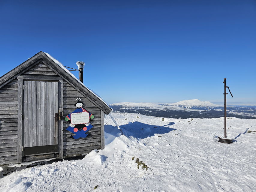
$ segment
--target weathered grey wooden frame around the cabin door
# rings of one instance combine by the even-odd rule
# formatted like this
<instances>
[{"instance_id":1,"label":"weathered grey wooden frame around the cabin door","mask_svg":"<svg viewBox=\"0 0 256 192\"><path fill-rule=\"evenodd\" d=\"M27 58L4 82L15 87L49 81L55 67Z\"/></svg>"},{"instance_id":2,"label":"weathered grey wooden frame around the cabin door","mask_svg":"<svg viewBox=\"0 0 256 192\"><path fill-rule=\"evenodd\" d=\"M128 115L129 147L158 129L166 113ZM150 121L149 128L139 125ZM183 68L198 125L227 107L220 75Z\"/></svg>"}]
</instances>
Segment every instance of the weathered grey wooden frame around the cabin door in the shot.
<instances>
[{"instance_id":1,"label":"weathered grey wooden frame around the cabin door","mask_svg":"<svg viewBox=\"0 0 256 192\"><path fill-rule=\"evenodd\" d=\"M17 163L22 163L23 146L23 85L24 80L57 81L59 88L59 158L63 157L63 79L53 76L20 75L18 79L18 134L17 134ZM37 154L36 154L37 155Z\"/></svg>"}]
</instances>

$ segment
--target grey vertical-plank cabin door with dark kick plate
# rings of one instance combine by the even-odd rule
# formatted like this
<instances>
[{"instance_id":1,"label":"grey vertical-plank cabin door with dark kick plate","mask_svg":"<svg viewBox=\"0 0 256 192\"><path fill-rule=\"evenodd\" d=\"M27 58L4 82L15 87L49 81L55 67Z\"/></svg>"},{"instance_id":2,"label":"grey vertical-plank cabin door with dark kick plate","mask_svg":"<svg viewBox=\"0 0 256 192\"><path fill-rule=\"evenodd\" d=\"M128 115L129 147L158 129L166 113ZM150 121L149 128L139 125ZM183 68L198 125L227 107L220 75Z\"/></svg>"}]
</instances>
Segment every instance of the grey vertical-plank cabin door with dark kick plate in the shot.
<instances>
[{"instance_id":1,"label":"grey vertical-plank cabin door with dark kick plate","mask_svg":"<svg viewBox=\"0 0 256 192\"><path fill-rule=\"evenodd\" d=\"M58 81L23 81L23 156L58 152Z\"/></svg>"}]
</instances>

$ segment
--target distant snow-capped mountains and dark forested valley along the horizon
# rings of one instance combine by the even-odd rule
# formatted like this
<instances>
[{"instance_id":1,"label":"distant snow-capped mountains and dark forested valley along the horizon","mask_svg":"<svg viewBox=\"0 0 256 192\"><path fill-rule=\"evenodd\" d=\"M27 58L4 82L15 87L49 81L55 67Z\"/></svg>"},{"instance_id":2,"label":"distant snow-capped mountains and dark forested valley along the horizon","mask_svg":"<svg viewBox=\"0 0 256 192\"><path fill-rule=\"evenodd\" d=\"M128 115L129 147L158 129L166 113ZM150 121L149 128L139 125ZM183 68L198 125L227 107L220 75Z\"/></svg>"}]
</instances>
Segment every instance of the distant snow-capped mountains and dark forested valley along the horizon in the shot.
<instances>
[{"instance_id":1,"label":"distant snow-capped mountains and dark forested valley along the horizon","mask_svg":"<svg viewBox=\"0 0 256 192\"><path fill-rule=\"evenodd\" d=\"M219 118L224 116L224 106L198 99L172 104L123 102L109 104L113 112L140 113L143 115L170 118ZM227 106L227 116L241 119L256 119L256 106Z\"/></svg>"}]
</instances>

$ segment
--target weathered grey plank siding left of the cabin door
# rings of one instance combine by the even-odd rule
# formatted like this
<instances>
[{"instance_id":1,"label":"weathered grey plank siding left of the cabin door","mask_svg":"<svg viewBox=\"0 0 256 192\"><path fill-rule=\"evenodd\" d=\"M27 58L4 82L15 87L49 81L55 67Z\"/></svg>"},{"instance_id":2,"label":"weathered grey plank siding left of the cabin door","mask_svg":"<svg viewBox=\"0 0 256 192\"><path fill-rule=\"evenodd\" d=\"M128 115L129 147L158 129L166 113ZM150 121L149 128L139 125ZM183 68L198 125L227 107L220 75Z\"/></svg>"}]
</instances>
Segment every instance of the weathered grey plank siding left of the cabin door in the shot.
<instances>
[{"instance_id":1,"label":"weathered grey plank siding left of the cabin door","mask_svg":"<svg viewBox=\"0 0 256 192\"><path fill-rule=\"evenodd\" d=\"M0 165L17 163L18 79L0 89Z\"/></svg>"}]
</instances>

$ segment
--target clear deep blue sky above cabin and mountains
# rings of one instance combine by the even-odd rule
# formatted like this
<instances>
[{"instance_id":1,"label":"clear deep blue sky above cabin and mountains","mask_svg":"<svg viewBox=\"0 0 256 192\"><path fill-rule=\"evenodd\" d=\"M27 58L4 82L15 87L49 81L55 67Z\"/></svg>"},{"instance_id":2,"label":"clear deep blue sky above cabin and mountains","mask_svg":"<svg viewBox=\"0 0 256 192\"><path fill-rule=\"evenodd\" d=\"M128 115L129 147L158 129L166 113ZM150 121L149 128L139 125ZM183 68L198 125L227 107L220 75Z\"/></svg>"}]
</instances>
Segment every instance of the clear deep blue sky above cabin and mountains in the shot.
<instances>
[{"instance_id":1,"label":"clear deep blue sky above cabin and mountains","mask_svg":"<svg viewBox=\"0 0 256 192\"><path fill-rule=\"evenodd\" d=\"M255 0L0 0L0 20L0 76L43 51L107 103L223 103L226 77L256 104Z\"/></svg>"}]
</instances>

